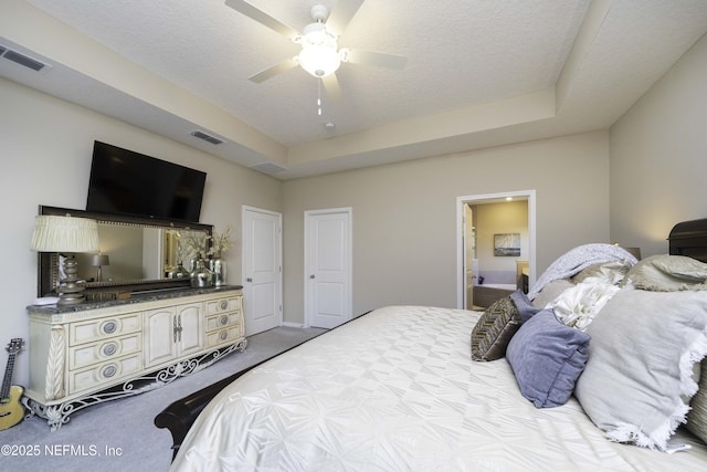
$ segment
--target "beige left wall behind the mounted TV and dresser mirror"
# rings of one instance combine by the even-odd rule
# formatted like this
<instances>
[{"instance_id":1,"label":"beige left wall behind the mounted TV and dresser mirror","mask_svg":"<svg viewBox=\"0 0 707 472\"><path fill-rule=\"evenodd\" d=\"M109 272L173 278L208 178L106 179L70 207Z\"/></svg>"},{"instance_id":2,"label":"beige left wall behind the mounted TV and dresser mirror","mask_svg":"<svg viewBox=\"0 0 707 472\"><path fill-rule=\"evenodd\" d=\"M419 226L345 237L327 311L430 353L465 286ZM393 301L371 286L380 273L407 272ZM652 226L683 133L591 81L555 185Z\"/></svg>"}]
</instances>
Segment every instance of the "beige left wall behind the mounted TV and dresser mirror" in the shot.
<instances>
[{"instance_id":1,"label":"beige left wall behind the mounted TV and dresser mirror","mask_svg":"<svg viewBox=\"0 0 707 472\"><path fill-rule=\"evenodd\" d=\"M29 337L24 308L36 296L36 254L30 251L30 240L38 207L85 208L94 139L205 171L201 221L219 229L233 224L239 240L242 204L282 211L282 183L265 175L4 78L0 103L2 346L10 337ZM240 283L240 244L226 260L229 279ZM27 385L28 357L18 356L15 384ZM6 359L2 350L2 366Z\"/></svg>"}]
</instances>

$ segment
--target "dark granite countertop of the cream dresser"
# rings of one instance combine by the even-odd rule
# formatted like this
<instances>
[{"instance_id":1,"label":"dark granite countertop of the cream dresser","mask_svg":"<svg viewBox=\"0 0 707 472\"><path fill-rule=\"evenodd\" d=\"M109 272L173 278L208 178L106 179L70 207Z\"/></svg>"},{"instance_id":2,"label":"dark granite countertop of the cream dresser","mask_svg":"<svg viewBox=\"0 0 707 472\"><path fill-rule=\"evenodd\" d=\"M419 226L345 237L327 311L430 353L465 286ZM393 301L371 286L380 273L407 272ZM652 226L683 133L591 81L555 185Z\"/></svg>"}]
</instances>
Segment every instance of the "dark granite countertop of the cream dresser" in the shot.
<instances>
[{"instance_id":1,"label":"dark granite countertop of the cream dresser","mask_svg":"<svg viewBox=\"0 0 707 472\"><path fill-rule=\"evenodd\" d=\"M84 312L87 310L106 308L109 306L123 306L133 303L154 302L158 300L180 298L184 296L193 295L208 295L219 292L231 292L234 290L242 290L243 285L222 285L212 286L208 289L192 289L191 286L176 287L176 289L161 289L149 290L139 293L131 293L128 298L122 300L107 300L101 302L84 302L76 305L30 305L27 307L30 313L43 313L46 315L57 315L62 313Z\"/></svg>"}]
</instances>

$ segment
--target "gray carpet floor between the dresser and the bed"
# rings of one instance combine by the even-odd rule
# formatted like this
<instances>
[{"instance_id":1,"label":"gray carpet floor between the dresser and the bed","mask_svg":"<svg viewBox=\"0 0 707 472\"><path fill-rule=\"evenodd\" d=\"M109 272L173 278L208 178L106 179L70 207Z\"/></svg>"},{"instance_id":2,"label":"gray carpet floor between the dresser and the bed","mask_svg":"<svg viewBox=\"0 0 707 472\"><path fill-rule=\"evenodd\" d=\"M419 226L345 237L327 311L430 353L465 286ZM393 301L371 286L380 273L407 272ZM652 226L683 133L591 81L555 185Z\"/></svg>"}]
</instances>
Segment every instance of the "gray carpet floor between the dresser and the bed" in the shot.
<instances>
[{"instance_id":1,"label":"gray carpet floor between the dresser and the bed","mask_svg":"<svg viewBox=\"0 0 707 472\"><path fill-rule=\"evenodd\" d=\"M235 352L212 366L161 388L98 403L51 431L31 417L0 431L2 471L166 471L171 463L171 434L152 422L175 400L253 366L325 332L278 327L249 337L244 353Z\"/></svg>"}]
</instances>

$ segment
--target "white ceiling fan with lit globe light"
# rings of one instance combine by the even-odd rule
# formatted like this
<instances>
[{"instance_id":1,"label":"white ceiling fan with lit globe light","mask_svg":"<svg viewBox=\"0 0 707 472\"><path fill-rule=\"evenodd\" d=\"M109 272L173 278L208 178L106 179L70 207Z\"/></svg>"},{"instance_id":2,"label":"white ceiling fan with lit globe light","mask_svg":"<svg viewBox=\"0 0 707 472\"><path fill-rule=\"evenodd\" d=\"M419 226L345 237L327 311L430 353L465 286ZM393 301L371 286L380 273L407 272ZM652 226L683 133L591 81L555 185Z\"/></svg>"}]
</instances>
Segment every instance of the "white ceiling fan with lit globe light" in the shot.
<instances>
[{"instance_id":1,"label":"white ceiling fan with lit globe light","mask_svg":"<svg viewBox=\"0 0 707 472\"><path fill-rule=\"evenodd\" d=\"M249 77L251 81L261 83L299 65L313 76L321 80L327 95L334 101L341 97L341 90L336 77L336 71L341 62L395 70L404 69L408 62L407 57L394 54L349 48L338 50L339 36L362 3L363 0L339 0L331 14L326 6L315 4L310 10L313 22L299 32L245 0L225 0L225 4L235 11L302 45L298 55L251 75Z\"/></svg>"}]
</instances>

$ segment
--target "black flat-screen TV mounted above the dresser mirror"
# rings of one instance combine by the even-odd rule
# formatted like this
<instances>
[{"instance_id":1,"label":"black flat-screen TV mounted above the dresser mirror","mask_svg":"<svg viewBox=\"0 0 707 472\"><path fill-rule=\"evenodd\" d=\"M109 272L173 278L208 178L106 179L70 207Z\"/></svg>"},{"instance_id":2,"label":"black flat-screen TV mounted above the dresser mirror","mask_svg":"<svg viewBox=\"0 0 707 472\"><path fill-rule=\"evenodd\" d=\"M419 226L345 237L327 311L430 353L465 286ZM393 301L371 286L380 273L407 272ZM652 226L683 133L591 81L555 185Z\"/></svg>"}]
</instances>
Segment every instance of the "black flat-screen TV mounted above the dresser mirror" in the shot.
<instances>
[{"instance_id":1,"label":"black flat-screen TV mounted above the dresser mirror","mask_svg":"<svg viewBox=\"0 0 707 472\"><path fill-rule=\"evenodd\" d=\"M95 141L86 211L199 222L207 174Z\"/></svg>"}]
</instances>

